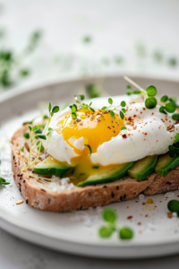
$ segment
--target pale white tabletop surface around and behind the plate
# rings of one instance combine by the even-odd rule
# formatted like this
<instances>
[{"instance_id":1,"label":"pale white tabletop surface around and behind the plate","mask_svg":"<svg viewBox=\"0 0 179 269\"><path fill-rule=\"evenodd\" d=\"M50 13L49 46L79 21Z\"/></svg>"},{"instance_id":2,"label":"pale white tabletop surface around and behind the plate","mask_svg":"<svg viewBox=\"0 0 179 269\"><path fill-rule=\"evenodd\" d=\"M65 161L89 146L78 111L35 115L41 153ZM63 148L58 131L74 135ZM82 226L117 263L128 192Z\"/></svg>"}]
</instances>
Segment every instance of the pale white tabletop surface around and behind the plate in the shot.
<instances>
[{"instance_id":1,"label":"pale white tabletop surface around and behind the plate","mask_svg":"<svg viewBox=\"0 0 179 269\"><path fill-rule=\"evenodd\" d=\"M41 47L27 61L34 71L19 84L35 84L44 80L105 73L151 74L178 78L179 68L166 65L168 56L179 57L177 0L2 0L0 24L8 29L8 37L0 46L22 48L30 31L44 30ZM90 35L90 48L81 38ZM144 44L146 54L136 54L136 44ZM156 63L155 49L162 49L165 59ZM71 56L59 64L56 58ZM123 56L122 65L101 65L101 59ZM73 63L74 59L74 63ZM100 64L99 64L100 63ZM85 70L84 70L85 69ZM0 268L178 268L179 256L148 260L103 261L36 247L0 230Z\"/></svg>"}]
</instances>

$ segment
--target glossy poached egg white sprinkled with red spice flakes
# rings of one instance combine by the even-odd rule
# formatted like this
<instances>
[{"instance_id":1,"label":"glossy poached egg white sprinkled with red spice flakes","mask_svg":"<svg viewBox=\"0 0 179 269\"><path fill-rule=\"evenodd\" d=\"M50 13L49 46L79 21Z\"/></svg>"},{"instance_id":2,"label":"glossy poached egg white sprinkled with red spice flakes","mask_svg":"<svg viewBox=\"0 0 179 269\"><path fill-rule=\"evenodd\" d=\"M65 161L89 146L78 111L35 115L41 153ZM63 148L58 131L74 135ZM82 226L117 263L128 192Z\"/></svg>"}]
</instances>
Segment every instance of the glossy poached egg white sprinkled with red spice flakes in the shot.
<instances>
[{"instance_id":1,"label":"glossy poached egg white sprinkled with red spice flakes","mask_svg":"<svg viewBox=\"0 0 179 269\"><path fill-rule=\"evenodd\" d=\"M179 125L175 125L174 132L168 132L166 126L174 124L170 116L162 114L158 111L159 106L153 109L145 109L144 103L129 104L133 100L130 96L117 96L113 98L114 106L117 106L122 100L127 103L127 112L125 117L132 117L133 126L126 125L126 130L112 137L106 143L98 146L97 152L90 155L90 160L94 164L109 165L115 163L124 163L129 161L138 161L146 156L155 154L164 154L168 151L168 146L174 143L175 134L178 133ZM135 98L136 100L136 98ZM93 108L102 108L107 106L107 98L97 98L93 101ZM88 103L90 100L88 101ZM52 117L50 123L51 128L59 128L59 122L71 112L70 108L65 108ZM135 115L135 117L133 117ZM124 138L126 134L127 138ZM47 136L47 140L43 142L47 152L58 161L66 161L71 164L73 157L78 155L74 152L71 143L78 150L82 150L84 146L84 138L70 138L68 143L64 141L62 134L52 132Z\"/></svg>"}]
</instances>

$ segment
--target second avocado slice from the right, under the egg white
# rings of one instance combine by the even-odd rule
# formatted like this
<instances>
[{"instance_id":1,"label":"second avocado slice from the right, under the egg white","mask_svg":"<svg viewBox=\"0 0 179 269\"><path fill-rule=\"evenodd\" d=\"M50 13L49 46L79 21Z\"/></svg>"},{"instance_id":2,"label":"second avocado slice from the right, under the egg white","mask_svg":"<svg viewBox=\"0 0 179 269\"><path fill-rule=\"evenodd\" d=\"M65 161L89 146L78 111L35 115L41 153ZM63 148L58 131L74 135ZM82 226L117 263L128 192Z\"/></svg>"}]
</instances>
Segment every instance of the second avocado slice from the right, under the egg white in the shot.
<instances>
[{"instance_id":1,"label":"second avocado slice from the right, under the egg white","mask_svg":"<svg viewBox=\"0 0 179 269\"><path fill-rule=\"evenodd\" d=\"M157 161L158 155L147 156L139 161L135 161L128 174L132 178L143 180L153 172Z\"/></svg>"}]
</instances>

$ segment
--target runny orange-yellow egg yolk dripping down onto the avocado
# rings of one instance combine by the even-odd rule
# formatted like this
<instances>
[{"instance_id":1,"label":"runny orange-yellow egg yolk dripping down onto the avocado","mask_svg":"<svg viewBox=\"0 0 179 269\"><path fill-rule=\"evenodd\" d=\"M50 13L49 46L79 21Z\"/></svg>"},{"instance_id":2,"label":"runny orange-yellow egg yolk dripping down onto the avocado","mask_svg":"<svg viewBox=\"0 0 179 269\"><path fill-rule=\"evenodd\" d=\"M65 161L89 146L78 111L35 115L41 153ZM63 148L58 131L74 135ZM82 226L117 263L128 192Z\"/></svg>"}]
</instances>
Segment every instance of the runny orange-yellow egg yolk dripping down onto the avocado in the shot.
<instances>
[{"instance_id":1,"label":"runny orange-yellow egg yolk dripping down onto the avocado","mask_svg":"<svg viewBox=\"0 0 179 269\"><path fill-rule=\"evenodd\" d=\"M72 170L69 178L72 182L78 183L90 175L97 174L116 167L117 165L102 166L94 164L90 161L90 149L91 152L97 152L98 146L105 143L116 136L121 131L124 121L121 117L115 114L115 117L111 117L108 111L95 110L92 112L90 109L81 109L76 112L77 118L72 119L71 114L64 117L59 123L62 126L62 134L64 141L74 149L74 152L79 157L72 158L72 165L75 169ZM79 139L83 137L85 146L83 150L78 150L69 142L70 138Z\"/></svg>"}]
</instances>

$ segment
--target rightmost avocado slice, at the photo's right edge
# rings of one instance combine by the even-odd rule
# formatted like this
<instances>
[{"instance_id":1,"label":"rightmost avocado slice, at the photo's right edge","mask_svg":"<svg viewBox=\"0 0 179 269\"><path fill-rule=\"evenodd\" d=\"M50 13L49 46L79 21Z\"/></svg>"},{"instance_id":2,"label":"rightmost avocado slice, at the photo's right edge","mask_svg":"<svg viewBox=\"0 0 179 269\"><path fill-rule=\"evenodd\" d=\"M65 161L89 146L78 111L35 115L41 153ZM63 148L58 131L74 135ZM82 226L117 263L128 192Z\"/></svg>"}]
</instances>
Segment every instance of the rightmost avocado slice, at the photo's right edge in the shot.
<instances>
[{"instance_id":1,"label":"rightmost avocado slice, at the photo's right edge","mask_svg":"<svg viewBox=\"0 0 179 269\"><path fill-rule=\"evenodd\" d=\"M175 169L179 165L179 156L175 155L173 158L169 156L167 152L164 155L158 156L158 162L155 171L161 175L166 176L171 170Z\"/></svg>"}]
</instances>

